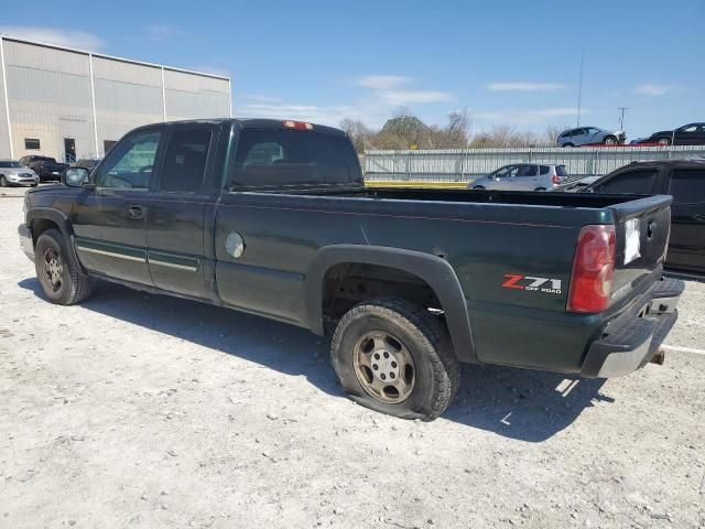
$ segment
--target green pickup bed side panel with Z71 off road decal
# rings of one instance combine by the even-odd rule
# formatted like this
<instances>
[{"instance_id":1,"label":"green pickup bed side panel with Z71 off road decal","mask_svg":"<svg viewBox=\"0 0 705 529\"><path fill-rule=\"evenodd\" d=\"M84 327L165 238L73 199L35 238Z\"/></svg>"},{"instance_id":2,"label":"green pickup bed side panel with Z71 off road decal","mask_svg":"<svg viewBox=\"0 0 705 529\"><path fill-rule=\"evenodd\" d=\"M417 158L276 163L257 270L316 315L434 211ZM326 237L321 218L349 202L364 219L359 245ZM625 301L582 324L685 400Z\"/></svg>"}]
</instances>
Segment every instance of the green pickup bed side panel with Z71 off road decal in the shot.
<instances>
[{"instance_id":1,"label":"green pickup bed side panel with Z71 off road decal","mask_svg":"<svg viewBox=\"0 0 705 529\"><path fill-rule=\"evenodd\" d=\"M442 256L463 287L480 360L574 371L601 321L565 313L575 241L583 225L608 222L589 208L228 193L217 208L218 292L234 306L305 326L304 279L321 248ZM245 239L239 259L225 251L231 231ZM505 288L508 274L560 287Z\"/></svg>"}]
</instances>

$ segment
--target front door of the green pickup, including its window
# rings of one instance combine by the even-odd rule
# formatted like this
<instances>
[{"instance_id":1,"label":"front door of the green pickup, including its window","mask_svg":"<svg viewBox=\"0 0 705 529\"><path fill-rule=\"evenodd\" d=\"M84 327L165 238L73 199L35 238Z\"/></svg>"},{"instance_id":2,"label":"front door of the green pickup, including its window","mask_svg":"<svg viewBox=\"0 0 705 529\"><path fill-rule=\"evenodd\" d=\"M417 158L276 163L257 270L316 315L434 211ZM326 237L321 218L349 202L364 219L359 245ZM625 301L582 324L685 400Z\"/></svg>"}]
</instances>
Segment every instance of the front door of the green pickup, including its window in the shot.
<instances>
[{"instance_id":1,"label":"front door of the green pickup, including its window","mask_svg":"<svg viewBox=\"0 0 705 529\"><path fill-rule=\"evenodd\" d=\"M161 128L123 138L94 173L72 213L76 250L88 270L152 284L147 264L147 214Z\"/></svg>"}]
</instances>

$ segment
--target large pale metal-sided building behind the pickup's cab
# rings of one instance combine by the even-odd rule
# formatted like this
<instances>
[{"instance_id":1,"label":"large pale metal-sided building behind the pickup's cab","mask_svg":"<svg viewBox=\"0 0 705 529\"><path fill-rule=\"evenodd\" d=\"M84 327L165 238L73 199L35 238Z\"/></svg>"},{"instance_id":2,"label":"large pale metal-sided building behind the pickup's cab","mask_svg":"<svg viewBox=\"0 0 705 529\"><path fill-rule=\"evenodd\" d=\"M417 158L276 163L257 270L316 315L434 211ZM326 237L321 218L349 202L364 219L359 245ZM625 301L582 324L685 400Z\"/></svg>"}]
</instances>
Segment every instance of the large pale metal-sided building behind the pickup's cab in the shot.
<instances>
[{"instance_id":1,"label":"large pale metal-sided building behind the pickup's cab","mask_svg":"<svg viewBox=\"0 0 705 529\"><path fill-rule=\"evenodd\" d=\"M101 158L140 125L231 115L230 79L0 35L0 159Z\"/></svg>"}]
</instances>

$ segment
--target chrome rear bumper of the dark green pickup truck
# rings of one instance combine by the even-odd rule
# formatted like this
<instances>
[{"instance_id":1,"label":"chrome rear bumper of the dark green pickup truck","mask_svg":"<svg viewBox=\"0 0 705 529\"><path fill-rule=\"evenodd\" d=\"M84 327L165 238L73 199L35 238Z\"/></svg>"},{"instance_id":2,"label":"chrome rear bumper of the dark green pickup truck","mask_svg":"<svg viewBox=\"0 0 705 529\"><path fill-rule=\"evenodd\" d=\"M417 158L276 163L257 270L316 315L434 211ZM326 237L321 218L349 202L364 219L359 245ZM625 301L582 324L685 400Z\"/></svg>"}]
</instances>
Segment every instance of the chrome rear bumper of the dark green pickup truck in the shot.
<instances>
[{"instance_id":1,"label":"chrome rear bumper of the dark green pickup truck","mask_svg":"<svg viewBox=\"0 0 705 529\"><path fill-rule=\"evenodd\" d=\"M593 342L581 375L608 378L628 375L647 365L677 320L676 305L685 283L662 279L632 309L623 312Z\"/></svg>"}]
</instances>

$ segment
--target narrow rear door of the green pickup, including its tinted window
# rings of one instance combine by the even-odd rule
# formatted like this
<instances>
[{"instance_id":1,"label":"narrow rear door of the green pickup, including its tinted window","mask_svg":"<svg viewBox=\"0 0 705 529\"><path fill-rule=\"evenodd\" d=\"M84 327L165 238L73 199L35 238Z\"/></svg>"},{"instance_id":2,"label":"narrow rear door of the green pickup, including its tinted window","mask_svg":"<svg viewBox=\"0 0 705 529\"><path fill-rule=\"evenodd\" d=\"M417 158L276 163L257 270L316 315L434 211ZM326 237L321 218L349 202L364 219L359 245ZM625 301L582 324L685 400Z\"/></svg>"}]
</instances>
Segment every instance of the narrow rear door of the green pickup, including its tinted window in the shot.
<instances>
[{"instance_id":1,"label":"narrow rear door of the green pickup, including its tinted window","mask_svg":"<svg viewBox=\"0 0 705 529\"><path fill-rule=\"evenodd\" d=\"M217 129L170 127L147 220L148 260L155 287L207 298L204 227L213 206L210 172Z\"/></svg>"}]
</instances>

